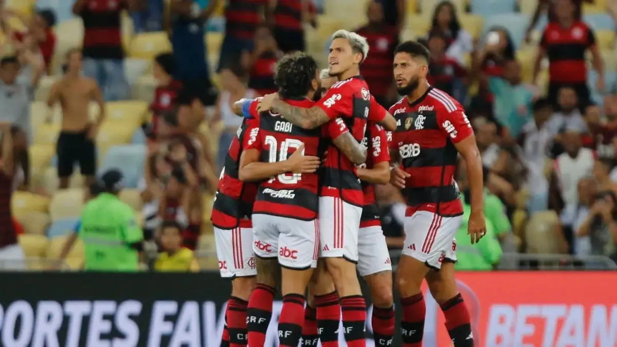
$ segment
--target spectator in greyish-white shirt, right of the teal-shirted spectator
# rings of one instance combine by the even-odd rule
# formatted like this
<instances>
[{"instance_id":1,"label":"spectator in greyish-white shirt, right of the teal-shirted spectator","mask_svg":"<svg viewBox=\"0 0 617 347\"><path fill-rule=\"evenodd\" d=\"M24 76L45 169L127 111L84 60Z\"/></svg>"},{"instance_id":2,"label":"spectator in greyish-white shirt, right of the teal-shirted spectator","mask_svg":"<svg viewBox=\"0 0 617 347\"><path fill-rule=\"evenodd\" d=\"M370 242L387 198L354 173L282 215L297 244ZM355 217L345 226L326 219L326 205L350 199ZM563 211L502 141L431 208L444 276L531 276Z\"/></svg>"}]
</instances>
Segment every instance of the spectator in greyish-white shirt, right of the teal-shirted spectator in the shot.
<instances>
[{"instance_id":1,"label":"spectator in greyish-white shirt, right of the teal-shirted spectator","mask_svg":"<svg viewBox=\"0 0 617 347\"><path fill-rule=\"evenodd\" d=\"M548 207L549 182L544 167L549 159L553 136L548 129L548 120L553 112L549 99L538 99L533 105L534 119L524 125L518 144L528 170L526 188L529 191L528 212L544 211Z\"/></svg>"}]
</instances>

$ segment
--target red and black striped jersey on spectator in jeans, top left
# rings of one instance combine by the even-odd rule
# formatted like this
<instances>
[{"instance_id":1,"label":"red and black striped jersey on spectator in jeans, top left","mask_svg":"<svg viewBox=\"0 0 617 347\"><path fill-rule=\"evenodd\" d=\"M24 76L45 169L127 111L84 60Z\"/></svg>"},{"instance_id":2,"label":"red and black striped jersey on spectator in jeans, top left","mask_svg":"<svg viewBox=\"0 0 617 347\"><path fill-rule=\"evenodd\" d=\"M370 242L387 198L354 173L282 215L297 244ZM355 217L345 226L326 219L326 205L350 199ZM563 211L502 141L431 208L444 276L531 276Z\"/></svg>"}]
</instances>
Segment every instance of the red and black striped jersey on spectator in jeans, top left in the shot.
<instances>
[{"instance_id":1,"label":"red and black striped jersey on spectator in jeans, top left","mask_svg":"<svg viewBox=\"0 0 617 347\"><path fill-rule=\"evenodd\" d=\"M81 9L83 56L94 59L122 59L122 11L126 0L88 0Z\"/></svg>"}]
</instances>

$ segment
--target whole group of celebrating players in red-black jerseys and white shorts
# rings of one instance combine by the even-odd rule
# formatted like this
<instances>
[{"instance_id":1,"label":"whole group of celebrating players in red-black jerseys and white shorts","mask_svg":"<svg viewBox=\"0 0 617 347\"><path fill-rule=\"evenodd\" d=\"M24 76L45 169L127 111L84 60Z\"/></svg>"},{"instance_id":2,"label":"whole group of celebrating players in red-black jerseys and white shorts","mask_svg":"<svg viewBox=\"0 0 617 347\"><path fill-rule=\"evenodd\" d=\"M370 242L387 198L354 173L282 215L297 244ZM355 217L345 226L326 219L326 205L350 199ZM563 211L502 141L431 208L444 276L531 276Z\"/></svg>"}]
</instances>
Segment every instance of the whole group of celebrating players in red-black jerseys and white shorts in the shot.
<instances>
[{"instance_id":1,"label":"whole group of celebrating players in red-black jerseys and white shorts","mask_svg":"<svg viewBox=\"0 0 617 347\"><path fill-rule=\"evenodd\" d=\"M280 346L337 346L341 318L347 346L365 346L357 272L370 287L375 344L391 346L392 267L373 190L388 182L408 205L395 282L403 346L422 344L423 280L453 345L473 346L454 278L463 214L453 178L458 154L471 182L472 242L485 229L481 160L465 112L426 82L429 54L421 44L396 49L394 77L405 97L387 112L360 75L366 39L346 30L332 39L321 74L311 56L290 54L276 65L278 93L234 104L245 118L212 212L221 275L232 279L222 346L263 347L278 286Z\"/></svg>"}]
</instances>

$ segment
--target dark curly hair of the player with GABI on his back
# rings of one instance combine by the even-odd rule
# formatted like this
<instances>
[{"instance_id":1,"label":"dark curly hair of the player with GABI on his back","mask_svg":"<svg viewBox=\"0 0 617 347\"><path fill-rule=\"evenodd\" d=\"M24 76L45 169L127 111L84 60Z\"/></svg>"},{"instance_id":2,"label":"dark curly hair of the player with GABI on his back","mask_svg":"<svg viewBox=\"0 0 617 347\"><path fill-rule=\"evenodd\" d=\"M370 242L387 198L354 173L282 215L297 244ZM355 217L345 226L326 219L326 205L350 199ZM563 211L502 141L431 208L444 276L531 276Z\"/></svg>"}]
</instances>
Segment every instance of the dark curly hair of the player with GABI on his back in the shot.
<instances>
[{"instance_id":1,"label":"dark curly hair of the player with GABI on his back","mask_svg":"<svg viewBox=\"0 0 617 347\"><path fill-rule=\"evenodd\" d=\"M304 99L312 88L317 62L304 52L287 54L276 63L274 83L283 99Z\"/></svg>"}]
</instances>

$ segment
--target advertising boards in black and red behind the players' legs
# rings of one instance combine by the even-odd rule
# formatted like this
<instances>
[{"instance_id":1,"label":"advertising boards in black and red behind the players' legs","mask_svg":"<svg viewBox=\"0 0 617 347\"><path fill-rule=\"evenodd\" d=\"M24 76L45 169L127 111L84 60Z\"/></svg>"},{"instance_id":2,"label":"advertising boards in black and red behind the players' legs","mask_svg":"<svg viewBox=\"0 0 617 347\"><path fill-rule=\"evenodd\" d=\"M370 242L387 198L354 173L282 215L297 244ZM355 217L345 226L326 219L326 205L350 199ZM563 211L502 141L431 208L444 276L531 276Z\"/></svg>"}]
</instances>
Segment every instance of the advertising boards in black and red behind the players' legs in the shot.
<instances>
[{"instance_id":1,"label":"advertising boards in black and red behind the players' legs","mask_svg":"<svg viewBox=\"0 0 617 347\"><path fill-rule=\"evenodd\" d=\"M478 347L617 346L617 272L459 273L458 286ZM229 293L209 272L0 273L0 346L218 347ZM423 346L452 346L439 306L425 297ZM265 347L277 345L281 306Z\"/></svg>"}]
</instances>

